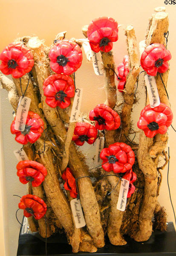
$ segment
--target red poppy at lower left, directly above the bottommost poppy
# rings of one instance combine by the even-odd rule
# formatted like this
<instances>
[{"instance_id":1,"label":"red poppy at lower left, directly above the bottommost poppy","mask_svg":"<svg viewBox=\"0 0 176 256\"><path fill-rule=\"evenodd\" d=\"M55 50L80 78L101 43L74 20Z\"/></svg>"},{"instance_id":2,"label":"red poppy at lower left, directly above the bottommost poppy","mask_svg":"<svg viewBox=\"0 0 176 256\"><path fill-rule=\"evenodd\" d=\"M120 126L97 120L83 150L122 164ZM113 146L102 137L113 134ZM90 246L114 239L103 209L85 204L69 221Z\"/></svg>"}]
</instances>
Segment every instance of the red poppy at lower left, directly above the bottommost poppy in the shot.
<instances>
[{"instance_id":1,"label":"red poppy at lower left, directly above the bottommost poppy","mask_svg":"<svg viewBox=\"0 0 176 256\"><path fill-rule=\"evenodd\" d=\"M17 176L21 183L32 182L32 186L39 186L47 175L46 168L36 161L23 160L17 164Z\"/></svg>"}]
</instances>

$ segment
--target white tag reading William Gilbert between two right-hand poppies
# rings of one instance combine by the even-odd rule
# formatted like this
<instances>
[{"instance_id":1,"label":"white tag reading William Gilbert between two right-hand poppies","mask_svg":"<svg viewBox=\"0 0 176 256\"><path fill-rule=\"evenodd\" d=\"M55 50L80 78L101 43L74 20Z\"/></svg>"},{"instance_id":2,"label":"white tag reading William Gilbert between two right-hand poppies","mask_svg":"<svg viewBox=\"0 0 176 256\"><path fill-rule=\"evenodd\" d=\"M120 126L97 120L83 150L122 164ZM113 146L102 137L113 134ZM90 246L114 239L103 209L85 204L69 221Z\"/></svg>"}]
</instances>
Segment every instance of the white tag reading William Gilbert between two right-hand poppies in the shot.
<instances>
[{"instance_id":1,"label":"white tag reading William Gilbert between two right-hand poppies","mask_svg":"<svg viewBox=\"0 0 176 256\"><path fill-rule=\"evenodd\" d=\"M149 96L149 101L150 101L150 107L155 108L159 106L160 100L159 100L159 94L158 94L158 89L155 81L154 76L149 76L145 75L145 84L147 86L147 92Z\"/></svg>"}]
</instances>

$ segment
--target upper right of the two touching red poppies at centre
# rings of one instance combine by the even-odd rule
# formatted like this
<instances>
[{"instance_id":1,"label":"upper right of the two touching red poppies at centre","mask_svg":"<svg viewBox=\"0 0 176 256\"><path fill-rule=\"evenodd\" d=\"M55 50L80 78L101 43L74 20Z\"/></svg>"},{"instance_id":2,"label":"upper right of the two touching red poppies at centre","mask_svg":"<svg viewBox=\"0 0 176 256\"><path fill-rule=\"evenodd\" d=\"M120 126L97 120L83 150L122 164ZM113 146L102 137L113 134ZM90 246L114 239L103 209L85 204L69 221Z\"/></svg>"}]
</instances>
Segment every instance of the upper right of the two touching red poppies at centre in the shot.
<instances>
[{"instance_id":1,"label":"upper right of the two touching red poppies at centre","mask_svg":"<svg viewBox=\"0 0 176 256\"><path fill-rule=\"evenodd\" d=\"M89 112L89 119L95 121L98 130L116 130L120 124L120 116L105 104L97 105Z\"/></svg>"}]
</instances>

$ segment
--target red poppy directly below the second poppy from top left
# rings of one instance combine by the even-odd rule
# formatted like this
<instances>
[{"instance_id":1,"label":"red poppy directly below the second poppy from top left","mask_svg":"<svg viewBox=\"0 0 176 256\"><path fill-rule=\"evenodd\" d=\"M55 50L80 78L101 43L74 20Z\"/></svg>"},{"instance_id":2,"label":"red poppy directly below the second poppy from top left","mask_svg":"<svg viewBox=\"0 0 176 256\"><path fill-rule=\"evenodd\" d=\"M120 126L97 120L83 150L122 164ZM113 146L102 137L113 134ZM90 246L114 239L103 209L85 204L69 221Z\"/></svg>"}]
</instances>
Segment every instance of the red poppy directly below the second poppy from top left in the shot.
<instances>
[{"instance_id":1,"label":"red poppy directly below the second poppy from top left","mask_svg":"<svg viewBox=\"0 0 176 256\"><path fill-rule=\"evenodd\" d=\"M75 96L74 82L69 76L62 74L51 75L43 83L43 92L46 104L51 108L67 108Z\"/></svg>"}]
</instances>

